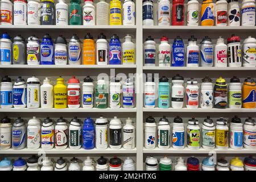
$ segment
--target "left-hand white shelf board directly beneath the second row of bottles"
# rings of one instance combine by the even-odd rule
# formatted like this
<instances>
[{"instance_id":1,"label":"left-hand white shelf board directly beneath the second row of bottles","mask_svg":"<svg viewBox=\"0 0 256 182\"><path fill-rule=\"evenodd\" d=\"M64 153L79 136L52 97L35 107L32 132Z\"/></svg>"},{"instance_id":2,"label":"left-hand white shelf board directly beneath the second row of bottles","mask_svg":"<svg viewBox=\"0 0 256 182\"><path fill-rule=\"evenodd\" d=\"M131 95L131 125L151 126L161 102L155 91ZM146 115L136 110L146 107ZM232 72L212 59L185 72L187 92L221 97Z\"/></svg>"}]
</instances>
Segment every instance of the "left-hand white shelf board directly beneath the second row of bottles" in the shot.
<instances>
[{"instance_id":1,"label":"left-hand white shelf board directly beneath the second row of bottles","mask_svg":"<svg viewBox=\"0 0 256 182\"><path fill-rule=\"evenodd\" d=\"M19 64L10 64L10 65L0 65L0 69L127 69L127 68L136 68L136 64L128 65L19 65Z\"/></svg>"}]
</instances>

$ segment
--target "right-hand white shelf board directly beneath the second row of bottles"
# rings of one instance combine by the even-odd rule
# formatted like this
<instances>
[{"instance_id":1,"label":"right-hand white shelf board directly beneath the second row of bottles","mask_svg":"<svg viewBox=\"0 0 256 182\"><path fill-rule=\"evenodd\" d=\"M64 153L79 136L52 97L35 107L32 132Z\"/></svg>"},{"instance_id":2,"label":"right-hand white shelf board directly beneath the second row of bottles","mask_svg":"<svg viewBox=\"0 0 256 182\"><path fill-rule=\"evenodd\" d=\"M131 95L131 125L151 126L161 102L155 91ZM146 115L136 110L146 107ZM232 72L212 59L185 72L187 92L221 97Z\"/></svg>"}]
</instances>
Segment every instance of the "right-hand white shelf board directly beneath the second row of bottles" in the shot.
<instances>
[{"instance_id":1,"label":"right-hand white shelf board directly beneath the second row of bottles","mask_svg":"<svg viewBox=\"0 0 256 182\"><path fill-rule=\"evenodd\" d=\"M256 71L256 67L143 67L143 70L176 71Z\"/></svg>"}]
</instances>

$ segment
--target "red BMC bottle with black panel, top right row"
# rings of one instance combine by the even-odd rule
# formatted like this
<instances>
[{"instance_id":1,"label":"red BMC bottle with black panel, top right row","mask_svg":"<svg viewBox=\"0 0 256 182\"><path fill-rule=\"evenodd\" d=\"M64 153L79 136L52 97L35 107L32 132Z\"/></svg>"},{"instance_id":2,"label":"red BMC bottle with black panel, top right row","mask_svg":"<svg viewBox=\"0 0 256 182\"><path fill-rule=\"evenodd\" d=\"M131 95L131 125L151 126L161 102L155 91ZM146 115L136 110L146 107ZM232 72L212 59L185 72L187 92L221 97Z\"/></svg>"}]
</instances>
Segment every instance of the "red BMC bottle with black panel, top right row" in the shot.
<instances>
[{"instance_id":1,"label":"red BMC bottle with black panel, top right row","mask_svg":"<svg viewBox=\"0 0 256 182\"><path fill-rule=\"evenodd\" d=\"M184 25L184 0L172 1L172 25Z\"/></svg>"}]
</instances>

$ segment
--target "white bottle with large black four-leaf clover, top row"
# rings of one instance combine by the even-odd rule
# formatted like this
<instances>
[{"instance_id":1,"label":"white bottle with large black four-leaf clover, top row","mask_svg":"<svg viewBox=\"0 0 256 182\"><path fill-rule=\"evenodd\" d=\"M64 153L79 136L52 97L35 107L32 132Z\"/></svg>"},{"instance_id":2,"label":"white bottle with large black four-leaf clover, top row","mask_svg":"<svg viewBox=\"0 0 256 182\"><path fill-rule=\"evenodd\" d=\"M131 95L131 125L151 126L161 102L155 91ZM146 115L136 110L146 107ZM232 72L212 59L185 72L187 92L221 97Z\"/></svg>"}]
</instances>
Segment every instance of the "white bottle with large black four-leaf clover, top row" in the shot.
<instances>
[{"instance_id":1,"label":"white bottle with large black four-leaf clover, top row","mask_svg":"<svg viewBox=\"0 0 256 182\"><path fill-rule=\"evenodd\" d=\"M238 1L230 1L228 3L228 26L240 26L240 7Z\"/></svg>"}]
</instances>

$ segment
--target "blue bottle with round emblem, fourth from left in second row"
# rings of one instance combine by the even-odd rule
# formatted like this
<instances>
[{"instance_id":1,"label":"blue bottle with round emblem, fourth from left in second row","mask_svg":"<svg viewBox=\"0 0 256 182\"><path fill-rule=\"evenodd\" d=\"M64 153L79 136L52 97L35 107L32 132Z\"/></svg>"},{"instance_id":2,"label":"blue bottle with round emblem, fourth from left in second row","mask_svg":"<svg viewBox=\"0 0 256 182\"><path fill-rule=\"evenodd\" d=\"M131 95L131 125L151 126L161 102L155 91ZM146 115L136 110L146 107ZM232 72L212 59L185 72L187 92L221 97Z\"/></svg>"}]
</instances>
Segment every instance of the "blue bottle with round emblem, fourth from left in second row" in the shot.
<instances>
[{"instance_id":1,"label":"blue bottle with round emblem, fourth from left in second row","mask_svg":"<svg viewBox=\"0 0 256 182\"><path fill-rule=\"evenodd\" d=\"M54 64L54 48L51 36L43 36L40 44L40 64Z\"/></svg>"}]
</instances>

